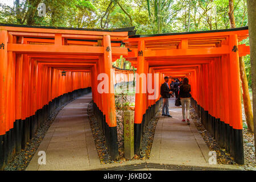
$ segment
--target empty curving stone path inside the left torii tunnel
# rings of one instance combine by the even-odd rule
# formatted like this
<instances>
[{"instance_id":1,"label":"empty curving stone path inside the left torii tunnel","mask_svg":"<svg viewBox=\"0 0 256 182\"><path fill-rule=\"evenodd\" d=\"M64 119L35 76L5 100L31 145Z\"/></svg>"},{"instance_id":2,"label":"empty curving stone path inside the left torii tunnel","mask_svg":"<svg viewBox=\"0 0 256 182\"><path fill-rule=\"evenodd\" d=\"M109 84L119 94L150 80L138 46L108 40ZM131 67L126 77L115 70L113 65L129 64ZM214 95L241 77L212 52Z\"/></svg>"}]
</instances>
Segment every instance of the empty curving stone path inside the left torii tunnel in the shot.
<instances>
[{"instance_id":1,"label":"empty curving stone path inside the left torii tunnel","mask_svg":"<svg viewBox=\"0 0 256 182\"><path fill-rule=\"evenodd\" d=\"M53 121L26 170L83 170L100 165L87 106L92 94L65 106ZM46 152L46 164L39 165L39 151Z\"/></svg>"}]
</instances>

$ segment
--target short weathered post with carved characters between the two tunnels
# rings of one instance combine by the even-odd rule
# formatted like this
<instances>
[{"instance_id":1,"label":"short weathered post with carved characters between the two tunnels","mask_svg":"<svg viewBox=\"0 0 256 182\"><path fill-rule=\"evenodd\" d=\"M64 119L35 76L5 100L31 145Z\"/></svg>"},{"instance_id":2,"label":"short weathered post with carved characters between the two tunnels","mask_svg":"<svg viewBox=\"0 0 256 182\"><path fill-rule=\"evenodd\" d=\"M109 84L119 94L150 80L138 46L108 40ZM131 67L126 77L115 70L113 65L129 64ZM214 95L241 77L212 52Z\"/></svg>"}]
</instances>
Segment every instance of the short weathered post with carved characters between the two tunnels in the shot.
<instances>
[{"instance_id":1,"label":"short weathered post with carved characters between the two tunnels","mask_svg":"<svg viewBox=\"0 0 256 182\"><path fill-rule=\"evenodd\" d=\"M125 158L134 157L134 111L126 110L123 118L123 135L125 145Z\"/></svg>"}]
</instances>

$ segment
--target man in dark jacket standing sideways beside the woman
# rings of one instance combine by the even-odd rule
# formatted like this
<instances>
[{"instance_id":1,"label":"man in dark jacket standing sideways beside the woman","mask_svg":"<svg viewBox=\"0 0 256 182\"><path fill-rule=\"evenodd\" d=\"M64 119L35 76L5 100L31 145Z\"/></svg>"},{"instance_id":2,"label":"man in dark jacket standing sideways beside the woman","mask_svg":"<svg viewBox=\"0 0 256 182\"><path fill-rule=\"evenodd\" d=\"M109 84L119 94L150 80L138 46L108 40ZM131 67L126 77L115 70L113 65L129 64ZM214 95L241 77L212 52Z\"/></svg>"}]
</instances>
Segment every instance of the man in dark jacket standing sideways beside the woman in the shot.
<instances>
[{"instance_id":1,"label":"man in dark jacket standing sideways beside the woman","mask_svg":"<svg viewBox=\"0 0 256 182\"><path fill-rule=\"evenodd\" d=\"M171 117L169 114L169 98L171 97L172 91L170 91L170 86L168 85L169 77L164 77L164 83L161 85L160 94L163 97L163 109L162 116ZM164 112L165 111L165 112Z\"/></svg>"}]
</instances>

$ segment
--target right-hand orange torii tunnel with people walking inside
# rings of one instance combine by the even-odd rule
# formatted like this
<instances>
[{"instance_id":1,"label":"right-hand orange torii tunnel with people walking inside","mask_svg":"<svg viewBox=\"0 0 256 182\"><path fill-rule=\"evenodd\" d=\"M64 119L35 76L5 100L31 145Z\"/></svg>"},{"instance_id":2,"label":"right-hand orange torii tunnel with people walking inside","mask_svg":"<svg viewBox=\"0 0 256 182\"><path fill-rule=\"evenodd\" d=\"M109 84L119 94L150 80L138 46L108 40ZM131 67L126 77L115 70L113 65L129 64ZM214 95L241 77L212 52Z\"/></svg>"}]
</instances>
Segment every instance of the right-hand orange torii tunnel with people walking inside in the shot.
<instances>
[{"instance_id":1,"label":"right-hand orange torii tunnel with people walking inside","mask_svg":"<svg viewBox=\"0 0 256 182\"><path fill-rule=\"evenodd\" d=\"M242 111L239 60L250 53L249 46L238 44L248 37L247 27L229 30L183 32L158 35L134 35L125 41L127 60L137 67L139 75L152 73L155 92L159 93L164 76L188 77L192 105L205 127L225 147L238 164L243 164ZM153 76L152 76L153 77ZM142 130L150 109L160 96L149 100L143 93L149 82L137 77L135 99L135 153L139 154Z\"/></svg>"}]
</instances>

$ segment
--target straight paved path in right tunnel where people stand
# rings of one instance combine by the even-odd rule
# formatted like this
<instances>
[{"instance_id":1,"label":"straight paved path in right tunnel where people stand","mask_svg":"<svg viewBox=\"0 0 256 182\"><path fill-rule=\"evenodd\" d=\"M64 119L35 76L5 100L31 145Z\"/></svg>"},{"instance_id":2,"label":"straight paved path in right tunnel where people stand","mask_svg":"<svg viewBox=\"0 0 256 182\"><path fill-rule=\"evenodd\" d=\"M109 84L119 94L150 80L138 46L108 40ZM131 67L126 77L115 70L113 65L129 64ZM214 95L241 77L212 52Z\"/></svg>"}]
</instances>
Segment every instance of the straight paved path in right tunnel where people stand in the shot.
<instances>
[{"instance_id":1,"label":"straight paved path in right tunnel where people stand","mask_svg":"<svg viewBox=\"0 0 256 182\"><path fill-rule=\"evenodd\" d=\"M190 125L181 122L181 106L175 106L174 101L174 98L170 98L172 118L161 117L158 121L150 160L204 166L208 164L209 148L191 118Z\"/></svg>"}]
</instances>

